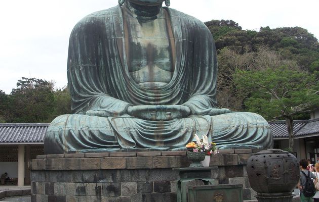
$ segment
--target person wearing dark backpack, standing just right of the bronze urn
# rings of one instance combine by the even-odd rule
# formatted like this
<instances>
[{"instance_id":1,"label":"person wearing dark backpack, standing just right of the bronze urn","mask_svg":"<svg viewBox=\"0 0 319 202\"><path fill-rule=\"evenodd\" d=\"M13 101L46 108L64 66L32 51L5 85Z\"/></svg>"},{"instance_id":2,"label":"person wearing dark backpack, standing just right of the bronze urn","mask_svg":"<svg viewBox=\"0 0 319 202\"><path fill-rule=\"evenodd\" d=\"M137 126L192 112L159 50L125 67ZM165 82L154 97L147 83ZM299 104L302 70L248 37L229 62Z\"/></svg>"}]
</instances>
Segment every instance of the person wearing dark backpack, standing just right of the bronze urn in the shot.
<instances>
[{"instance_id":1,"label":"person wearing dark backpack, standing just right of the bronze urn","mask_svg":"<svg viewBox=\"0 0 319 202\"><path fill-rule=\"evenodd\" d=\"M315 194L314 184L318 182L318 178L307 170L308 162L305 159L300 160L301 166L300 181L298 188L300 189L300 201L301 202L313 202L312 196ZM314 179L314 182L312 179Z\"/></svg>"}]
</instances>

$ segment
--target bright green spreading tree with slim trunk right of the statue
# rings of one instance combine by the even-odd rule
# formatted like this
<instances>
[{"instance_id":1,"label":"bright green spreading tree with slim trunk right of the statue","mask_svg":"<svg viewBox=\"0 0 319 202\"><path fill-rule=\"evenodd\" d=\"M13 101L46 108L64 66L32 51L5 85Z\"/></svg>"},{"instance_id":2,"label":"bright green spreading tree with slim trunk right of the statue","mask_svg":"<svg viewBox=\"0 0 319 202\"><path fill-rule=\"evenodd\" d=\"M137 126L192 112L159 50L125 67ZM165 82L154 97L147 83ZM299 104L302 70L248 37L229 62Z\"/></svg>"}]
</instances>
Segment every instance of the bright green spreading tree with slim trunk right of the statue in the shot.
<instances>
[{"instance_id":1,"label":"bright green spreading tree with slim trunk right of the statue","mask_svg":"<svg viewBox=\"0 0 319 202\"><path fill-rule=\"evenodd\" d=\"M266 119L286 120L289 149L293 149L293 120L319 108L319 83L315 76L284 65L237 71L234 81L238 88L251 94L245 102L248 111Z\"/></svg>"}]
</instances>

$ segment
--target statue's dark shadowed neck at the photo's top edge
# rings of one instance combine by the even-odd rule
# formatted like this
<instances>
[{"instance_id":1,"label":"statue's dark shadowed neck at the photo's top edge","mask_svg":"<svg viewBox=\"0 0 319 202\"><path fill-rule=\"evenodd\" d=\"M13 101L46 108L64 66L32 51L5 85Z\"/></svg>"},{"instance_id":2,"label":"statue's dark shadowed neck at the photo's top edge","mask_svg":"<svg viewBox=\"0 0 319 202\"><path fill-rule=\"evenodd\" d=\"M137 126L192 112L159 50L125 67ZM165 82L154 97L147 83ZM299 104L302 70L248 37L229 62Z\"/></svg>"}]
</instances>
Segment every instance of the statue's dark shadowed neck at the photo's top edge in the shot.
<instances>
[{"instance_id":1,"label":"statue's dark shadowed neck at the photo's top edge","mask_svg":"<svg viewBox=\"0 0 319 202\"><path fill-rule=\"evenodd\" d=\"M157 16L162 13L162 5L146 6L134 4L129 1L127 1L125 5L128 11L137 18L156 19Z\"/></svg>"}]
</instances>

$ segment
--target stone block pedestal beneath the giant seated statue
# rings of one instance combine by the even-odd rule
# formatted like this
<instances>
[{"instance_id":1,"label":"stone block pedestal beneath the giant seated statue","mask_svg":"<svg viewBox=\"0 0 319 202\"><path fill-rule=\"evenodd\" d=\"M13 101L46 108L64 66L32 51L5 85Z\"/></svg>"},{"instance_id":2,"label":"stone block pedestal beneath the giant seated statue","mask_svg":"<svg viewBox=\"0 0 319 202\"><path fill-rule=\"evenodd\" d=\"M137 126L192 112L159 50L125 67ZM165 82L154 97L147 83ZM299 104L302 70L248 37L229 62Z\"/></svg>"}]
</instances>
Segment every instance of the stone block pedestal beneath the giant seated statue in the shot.
<instances>
[{"instance_id":1,"label":"stone block pedestal beneath the giant seated statue","mask_svg":"<svg viewBox=\"0 0 319 202\"><path fill-rule=\"evenodd\" d=\"M243 184L244 199L251 199L246 163L253 152L220 151L207 178ZM29 161L31 201L177 201L180 175L173 168L189 164L186 151L41 155Z\"/></svg>"}]
</instances>

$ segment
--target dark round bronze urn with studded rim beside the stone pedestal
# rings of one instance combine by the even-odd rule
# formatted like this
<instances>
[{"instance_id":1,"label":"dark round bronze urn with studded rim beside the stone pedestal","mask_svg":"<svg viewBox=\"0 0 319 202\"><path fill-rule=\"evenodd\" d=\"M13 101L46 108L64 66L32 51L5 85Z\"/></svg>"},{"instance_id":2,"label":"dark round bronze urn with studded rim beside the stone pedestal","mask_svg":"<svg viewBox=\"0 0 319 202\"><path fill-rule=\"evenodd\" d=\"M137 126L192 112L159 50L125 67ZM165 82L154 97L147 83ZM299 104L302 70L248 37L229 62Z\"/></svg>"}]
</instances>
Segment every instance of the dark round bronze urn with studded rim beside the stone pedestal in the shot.
<instances>
[{"instance_id":1,"label":"dark round bronze urn with studded rim beside the stone pedestal","mask_svg":"<svg viewBox=\"0 0 319 202\"><path fill-rule=\"evenodd\" d=\"M251 187L263 198L271 193L291 195L300 177L296 157L281 149L262 150L251 156L247 173Z\"/></svg>"}]
</instances>

